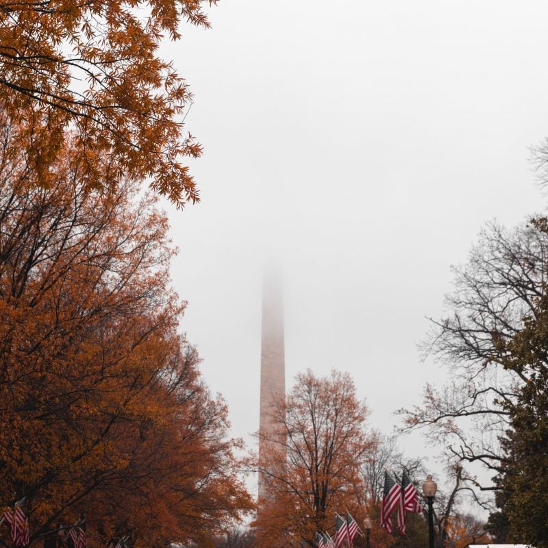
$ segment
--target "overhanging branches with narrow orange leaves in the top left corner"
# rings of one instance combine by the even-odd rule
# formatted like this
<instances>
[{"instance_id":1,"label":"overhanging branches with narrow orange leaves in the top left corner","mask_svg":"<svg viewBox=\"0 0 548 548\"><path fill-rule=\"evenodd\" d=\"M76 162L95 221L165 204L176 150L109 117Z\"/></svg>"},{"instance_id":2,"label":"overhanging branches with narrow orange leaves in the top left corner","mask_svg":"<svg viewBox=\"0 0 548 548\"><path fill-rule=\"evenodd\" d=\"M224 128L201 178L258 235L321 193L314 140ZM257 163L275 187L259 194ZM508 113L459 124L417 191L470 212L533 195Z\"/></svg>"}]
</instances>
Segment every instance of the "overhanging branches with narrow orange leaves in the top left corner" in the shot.
<instances>
[{"instance_id":1,"label":"overhanging branches with narrow orange leaves in the top left corner","mask_svg":"<svg viewBox=\"0 0 548 548\"><path fill-rule=\"evenodd\" d=\"M72 129L72 169L86 190L149 178L177 206L196 201L184 158L201 147L182 123L191 95L158 47L180 38L183 21L208 27L203 5L213 3L0 0L0 110L20 123L14 142L28 147L32 182L54 183ZM108 179L97 177L101 164Z\"/></svg>"}]
</instances>

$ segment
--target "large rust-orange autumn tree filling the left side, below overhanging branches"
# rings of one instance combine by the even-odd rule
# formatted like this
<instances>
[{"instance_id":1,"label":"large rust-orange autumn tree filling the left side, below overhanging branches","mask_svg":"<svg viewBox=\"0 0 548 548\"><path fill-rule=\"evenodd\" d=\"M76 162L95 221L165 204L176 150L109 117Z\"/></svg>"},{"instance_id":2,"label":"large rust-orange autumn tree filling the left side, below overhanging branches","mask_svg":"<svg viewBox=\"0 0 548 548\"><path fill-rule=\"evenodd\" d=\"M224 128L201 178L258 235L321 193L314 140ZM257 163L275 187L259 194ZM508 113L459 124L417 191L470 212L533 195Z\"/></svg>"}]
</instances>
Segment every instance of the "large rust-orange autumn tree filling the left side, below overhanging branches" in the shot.
<instances>
[{"instance_id":1,"label":"large rust-orange autumn tree filling the left side, below overhanging branches","mask_svg":"<svg viewBox=\"0 0 548 548\"><path fill-rule=\"evenodd\" d=\"M21 135L2 119L0 503L26 498L32 544L85 515L98 545L212 545L251 500L225 403L177 333L166 217L129 179L90 190L77 138L44 188ZM109 186L107 161L97 176Z\"/></svg>"}]
</instances>

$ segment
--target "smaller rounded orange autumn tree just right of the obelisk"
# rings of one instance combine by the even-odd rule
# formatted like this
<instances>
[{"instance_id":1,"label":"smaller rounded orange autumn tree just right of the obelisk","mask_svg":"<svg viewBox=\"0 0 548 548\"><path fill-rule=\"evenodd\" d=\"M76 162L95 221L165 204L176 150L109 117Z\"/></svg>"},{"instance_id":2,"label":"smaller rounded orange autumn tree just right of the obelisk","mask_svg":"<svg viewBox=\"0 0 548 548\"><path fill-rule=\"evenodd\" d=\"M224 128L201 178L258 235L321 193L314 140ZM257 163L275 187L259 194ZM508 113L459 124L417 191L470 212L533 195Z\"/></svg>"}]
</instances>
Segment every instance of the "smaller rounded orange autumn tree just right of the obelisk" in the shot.
<instances>
[{"instance_id":1,"label":"smaller rounded orange autumn tree just right of the obelisk","mask_svg":"<svg viewBox=\"0 0 548 548\"><path fill-rule=\"evenodd\" d=\"M316 531L333 531L336 511L358 510L360 467L372 445L366 415L347 373L297 375L273 410L275 435L259 432L273 447L259 469L269 479L253 524L259 546L315 546Z\"/></svg>"}]
</instances>

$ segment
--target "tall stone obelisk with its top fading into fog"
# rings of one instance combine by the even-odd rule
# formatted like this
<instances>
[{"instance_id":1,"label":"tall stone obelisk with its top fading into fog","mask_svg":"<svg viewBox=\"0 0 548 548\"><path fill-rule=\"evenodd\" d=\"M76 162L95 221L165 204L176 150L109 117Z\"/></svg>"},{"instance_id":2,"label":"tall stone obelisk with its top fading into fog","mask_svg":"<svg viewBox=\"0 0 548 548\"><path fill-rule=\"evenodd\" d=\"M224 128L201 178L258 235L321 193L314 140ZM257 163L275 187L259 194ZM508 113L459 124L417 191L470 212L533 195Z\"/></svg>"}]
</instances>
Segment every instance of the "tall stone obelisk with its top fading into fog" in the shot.
<instances>
[{"instance_id":1,"label":"tall stone obelisk with its top fading into fog","mask_svg":"<svg viewBox=\"0 0 548 548\"><path fill-rule=\"evenodd\" d=\"M275 419L286 393L284 303L281 277L274 271L264 274L262 285L260 391L259 467L263 472L259 472L259 498L264 499L269 496L269 456L282 450L284 439Z\"/></svg>"}]
</instances>

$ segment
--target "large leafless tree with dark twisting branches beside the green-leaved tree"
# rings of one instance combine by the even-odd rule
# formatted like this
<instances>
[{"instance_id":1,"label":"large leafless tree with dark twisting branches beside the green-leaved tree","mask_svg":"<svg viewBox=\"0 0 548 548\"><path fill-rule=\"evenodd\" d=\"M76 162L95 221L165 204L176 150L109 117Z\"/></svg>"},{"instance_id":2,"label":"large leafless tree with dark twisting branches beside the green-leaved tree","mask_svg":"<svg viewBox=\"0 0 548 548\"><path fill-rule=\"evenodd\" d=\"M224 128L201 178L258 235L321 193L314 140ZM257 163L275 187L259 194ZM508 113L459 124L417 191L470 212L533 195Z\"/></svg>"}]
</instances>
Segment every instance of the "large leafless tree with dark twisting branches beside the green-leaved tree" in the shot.
<instances>
[{"instance_id":1,"label":"large leafless tree with dark twisting branches beside the green-leaved tree","mask_svg":"<svg viewBox=\"0 0 548 548\"><path fill-rule=\"evenodd\" d=\"M508 429L505 403L514 401L530 371L506 369L501 343L523 329L524 316L536 314L534 303L547 275L548 235L538 229L542 222L513 230L486 225L469 262L453 267L447 316L431 319L423 351L447 364L451 377L442 388L427 385L423 403L400 412L404 429L429 429L453 462L481 463L495 472L506 462L499 443Z\"/></svg>"}]
</instances>

